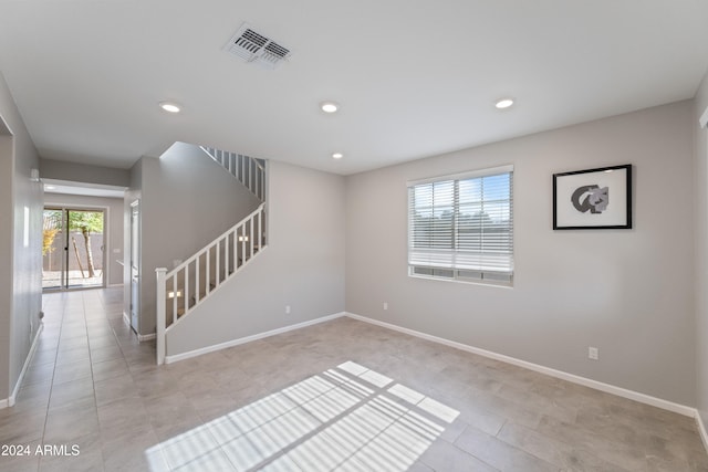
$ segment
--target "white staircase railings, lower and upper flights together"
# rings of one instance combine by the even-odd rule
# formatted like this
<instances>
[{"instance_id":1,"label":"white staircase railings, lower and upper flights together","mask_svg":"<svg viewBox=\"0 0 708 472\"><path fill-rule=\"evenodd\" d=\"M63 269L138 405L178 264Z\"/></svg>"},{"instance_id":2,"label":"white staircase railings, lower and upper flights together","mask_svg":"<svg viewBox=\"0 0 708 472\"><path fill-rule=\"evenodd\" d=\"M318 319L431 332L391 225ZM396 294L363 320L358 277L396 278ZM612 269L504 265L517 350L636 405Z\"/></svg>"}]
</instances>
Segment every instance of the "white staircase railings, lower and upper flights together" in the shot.
<instances>
[{"instance_id":1,"label":"white staircase railings, lower and upper flights together","mask_svg":"<svg viewBox=\"0 0 708 472\"><path fill-rule=\"evenodd\" d=\"M211 293L244 268L267 247L266 162L240 154L214 148L201 149L247 187L261 204L196 254L167 272L157 274L157 364L165 363L166 334L189 315Z\"/></svg>"}]
</instances>

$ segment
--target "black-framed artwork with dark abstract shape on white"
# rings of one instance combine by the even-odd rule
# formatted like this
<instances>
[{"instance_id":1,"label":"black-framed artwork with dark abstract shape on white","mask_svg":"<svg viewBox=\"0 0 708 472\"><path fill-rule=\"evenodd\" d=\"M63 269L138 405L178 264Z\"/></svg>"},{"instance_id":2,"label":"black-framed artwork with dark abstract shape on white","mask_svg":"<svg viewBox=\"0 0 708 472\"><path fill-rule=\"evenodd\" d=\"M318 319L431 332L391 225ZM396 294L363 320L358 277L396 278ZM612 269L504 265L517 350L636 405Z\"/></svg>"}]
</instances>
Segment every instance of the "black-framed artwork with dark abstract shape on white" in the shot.
<instances>
[{"instance_id":1,"label":"black-framed artwork with dark abstract shape on white","mask_svg":"<svg viewBox=\"0 0 708 472\"><path fill-rule=\"evenodd\" d=\"M632 229L632 165L553 174L553 229Z\"/></svg>"}]
</instances>

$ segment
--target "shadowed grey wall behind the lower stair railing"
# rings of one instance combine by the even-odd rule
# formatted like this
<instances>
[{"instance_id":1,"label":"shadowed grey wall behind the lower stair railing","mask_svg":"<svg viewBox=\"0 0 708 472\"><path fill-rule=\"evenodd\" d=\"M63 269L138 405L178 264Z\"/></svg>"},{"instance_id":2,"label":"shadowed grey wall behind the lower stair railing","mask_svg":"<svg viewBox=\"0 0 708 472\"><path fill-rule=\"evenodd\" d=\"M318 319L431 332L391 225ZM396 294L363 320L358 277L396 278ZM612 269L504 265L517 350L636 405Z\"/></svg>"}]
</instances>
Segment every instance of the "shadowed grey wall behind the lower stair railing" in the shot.
<instances>
[{"instance_id":1,"label":"shadowed grey wall behind the lower stair railing","mask_svg":"<svg viewBox=\"0 0 708 472\"><path fill-rule=\"evenodd\" d=\"M126 204L139 193L139 334L149 335L155 333L155 269L173 269L174 260L191 256L260 201L197 146L176 143L159 159L140 160L135 168L139 189L131 186Z\"/></svg>"}]
</instances>

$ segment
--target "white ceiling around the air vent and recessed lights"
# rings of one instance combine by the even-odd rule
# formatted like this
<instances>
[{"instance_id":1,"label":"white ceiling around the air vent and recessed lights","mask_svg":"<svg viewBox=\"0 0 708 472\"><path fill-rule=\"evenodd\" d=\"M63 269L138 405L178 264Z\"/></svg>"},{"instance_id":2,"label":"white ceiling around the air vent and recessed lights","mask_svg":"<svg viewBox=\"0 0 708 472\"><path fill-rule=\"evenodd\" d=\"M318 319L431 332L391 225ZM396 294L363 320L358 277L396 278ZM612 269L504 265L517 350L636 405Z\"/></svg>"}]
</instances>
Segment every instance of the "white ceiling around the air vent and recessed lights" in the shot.
<instances>
[{"instance_id":1,"label":"white ceiling around the air vent and recessed lights","mask_svg":"<svg viewBox=\"0 0 708 472\"><path fill-rule=\"evenodd\" d=\"M291 59L225 52L243 22ZM707 66L706 0L0 0L41 156L122 168L183 140L347 175L691 98Z\"/></svg>"}]
</instances>

